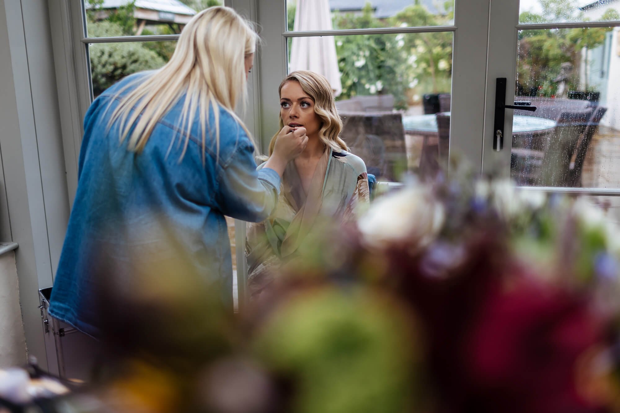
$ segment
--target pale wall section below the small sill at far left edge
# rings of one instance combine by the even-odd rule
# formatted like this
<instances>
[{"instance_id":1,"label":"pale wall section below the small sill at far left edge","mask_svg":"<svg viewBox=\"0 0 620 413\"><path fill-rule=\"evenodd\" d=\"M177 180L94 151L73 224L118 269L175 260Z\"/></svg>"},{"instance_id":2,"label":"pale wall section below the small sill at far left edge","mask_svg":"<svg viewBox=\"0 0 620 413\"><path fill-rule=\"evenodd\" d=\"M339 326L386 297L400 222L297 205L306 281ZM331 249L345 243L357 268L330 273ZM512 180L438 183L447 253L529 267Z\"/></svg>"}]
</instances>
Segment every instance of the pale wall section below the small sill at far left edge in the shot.
<instances>
[{"instance_id":1,"label":"pale wall section below the small sill at far left edge","mask_svg":"<svg viewBox=\"0 0 620 413\"><path fill-rule=\"evenodd\" d=\"M0 368L24 365L26 339L13 251L0 255Z\"/></svg>"}]
</instances>

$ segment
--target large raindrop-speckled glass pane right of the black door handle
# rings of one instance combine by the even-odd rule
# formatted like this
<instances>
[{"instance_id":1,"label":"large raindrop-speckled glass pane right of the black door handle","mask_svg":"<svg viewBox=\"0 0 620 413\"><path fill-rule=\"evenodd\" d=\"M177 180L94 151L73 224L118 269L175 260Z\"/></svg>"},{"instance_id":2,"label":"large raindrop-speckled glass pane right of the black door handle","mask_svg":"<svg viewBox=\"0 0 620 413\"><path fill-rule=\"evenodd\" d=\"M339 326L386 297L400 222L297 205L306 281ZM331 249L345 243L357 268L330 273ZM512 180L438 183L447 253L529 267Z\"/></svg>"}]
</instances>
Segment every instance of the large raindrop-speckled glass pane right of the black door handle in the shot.
<instances>
[{"instance_id":1,"label":"large raindrop-speckled glass pane right of the black door handle","mask_svg":"<svg viewBox=\"0 0 620 413\"><path fill-rule=\"evenodd\" d=\"M620 48L613 27L520 30L510 175L520 185L620 188Z\"/></svg>"}]
</instances>

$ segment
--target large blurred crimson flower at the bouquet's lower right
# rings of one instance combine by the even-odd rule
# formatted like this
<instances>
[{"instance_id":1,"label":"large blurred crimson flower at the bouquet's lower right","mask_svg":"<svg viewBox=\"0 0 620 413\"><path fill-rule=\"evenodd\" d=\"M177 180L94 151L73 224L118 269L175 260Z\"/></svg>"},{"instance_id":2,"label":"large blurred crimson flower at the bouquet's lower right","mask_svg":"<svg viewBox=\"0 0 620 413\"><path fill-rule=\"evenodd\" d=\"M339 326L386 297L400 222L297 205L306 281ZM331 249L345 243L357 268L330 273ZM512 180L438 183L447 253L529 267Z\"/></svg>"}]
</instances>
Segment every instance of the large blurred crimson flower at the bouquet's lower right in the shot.
<instances>
[{"instance_id":1,"label":"large blurred crimson flower at the bouquet's lower right","mask_svg":"<svg viewBox=\"0 0 620 413\"><path fill-rule=\"evenodd\" d=\"M479 412L593 412L576 386L577 360L601 340L587 304L517 278L498 285L464 343L470 393Z\"/></svg>"}]
</instances>

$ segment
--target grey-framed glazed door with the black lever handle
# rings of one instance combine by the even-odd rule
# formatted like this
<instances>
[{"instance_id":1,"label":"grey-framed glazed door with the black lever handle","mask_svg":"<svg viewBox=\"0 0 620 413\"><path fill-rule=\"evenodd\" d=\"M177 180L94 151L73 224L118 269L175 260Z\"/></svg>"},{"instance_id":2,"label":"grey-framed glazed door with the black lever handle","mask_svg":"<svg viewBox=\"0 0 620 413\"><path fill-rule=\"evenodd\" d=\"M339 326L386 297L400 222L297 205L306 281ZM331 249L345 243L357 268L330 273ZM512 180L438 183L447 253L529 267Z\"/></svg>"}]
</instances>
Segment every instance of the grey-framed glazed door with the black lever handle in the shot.
<instances>
[{"instance_id":1,"label":"grey-framed glazed door with the black lever handle","mask_svg":"<svg viewBox=\"0 0 620 413\"><path fill-rule=\"evenodd\" d=\"M491 1L483 172L524 186L620 189L619 4ZM514 97L536 111L496 108L497 78L508 79L505 104ZM505 133L495 151L497 113Z\"/></svg>"}]
</instances>

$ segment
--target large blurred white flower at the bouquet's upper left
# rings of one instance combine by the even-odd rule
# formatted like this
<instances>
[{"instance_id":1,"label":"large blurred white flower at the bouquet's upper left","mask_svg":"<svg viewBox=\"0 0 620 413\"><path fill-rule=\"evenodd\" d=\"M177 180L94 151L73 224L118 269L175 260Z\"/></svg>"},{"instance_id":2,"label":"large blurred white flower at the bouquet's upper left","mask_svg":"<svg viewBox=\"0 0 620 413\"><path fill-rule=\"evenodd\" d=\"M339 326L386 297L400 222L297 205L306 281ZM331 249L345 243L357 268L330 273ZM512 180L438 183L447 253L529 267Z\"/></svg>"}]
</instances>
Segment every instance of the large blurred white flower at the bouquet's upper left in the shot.
<instances>
[{"instance_id":1,"label":"large blurred white flower at the bouquet's upper left","mask_svg":"<svg viewBox=\"0 0 620 413\"><path fill-rule=\"evenodd\" d=\"M445 221L443 204L425 187L409 188L379 198L358 228L366 244L384 247L392 242L410 242L412 249L428 246Z\"/></svg>"}]
</instances>

